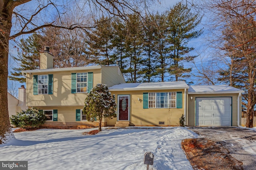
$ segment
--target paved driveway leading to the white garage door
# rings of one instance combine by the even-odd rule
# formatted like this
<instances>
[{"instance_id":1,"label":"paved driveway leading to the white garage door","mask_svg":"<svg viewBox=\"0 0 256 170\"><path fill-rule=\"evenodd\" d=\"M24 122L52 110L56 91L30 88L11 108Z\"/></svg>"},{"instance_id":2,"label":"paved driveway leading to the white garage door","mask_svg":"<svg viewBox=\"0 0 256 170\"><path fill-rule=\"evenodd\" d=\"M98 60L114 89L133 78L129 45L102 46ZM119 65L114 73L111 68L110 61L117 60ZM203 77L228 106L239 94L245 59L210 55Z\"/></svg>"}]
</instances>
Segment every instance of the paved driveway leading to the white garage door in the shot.
<instances>
[{"instance_id":1,"label":"paved driveway leading to the white garage door","mask_svg":"<svg viewBox=\"0 0 256 170\"><path fill-rule=\"evenodd\" d=\"M221 143L230 155L243 162L244 170L256 170L256 131L238 127L189 127L211 141Z\"/></svg>"}]
</instances>

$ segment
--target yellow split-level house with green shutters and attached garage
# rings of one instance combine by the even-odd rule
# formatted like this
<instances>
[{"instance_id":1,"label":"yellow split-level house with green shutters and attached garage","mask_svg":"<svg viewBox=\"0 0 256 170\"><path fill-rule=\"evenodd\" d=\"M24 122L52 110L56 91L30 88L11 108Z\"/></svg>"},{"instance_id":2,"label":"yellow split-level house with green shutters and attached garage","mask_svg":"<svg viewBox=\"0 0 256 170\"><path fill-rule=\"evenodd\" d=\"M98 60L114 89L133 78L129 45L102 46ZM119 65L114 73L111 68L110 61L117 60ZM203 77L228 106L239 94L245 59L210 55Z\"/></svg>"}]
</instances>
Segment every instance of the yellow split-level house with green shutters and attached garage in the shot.
<instances>
[{"instance_id":1,"label":"yellow split-level house with green shutters and attached garage","mask_svg":"<svg viewBox=\"0 0 256 170\"><path fill-rule=\"evenodd\" d=\"M116 96L114 119L104 126L238 126L243 90L226 85L188 86L185 82L126 83L118 66L53 68L46 48L39 70L25 70L27 106L42 109L46 127L91 127L83 115L84 100L96 84ZM238 123L239 122L239 123Z\"/></svg>"}]
</instances>

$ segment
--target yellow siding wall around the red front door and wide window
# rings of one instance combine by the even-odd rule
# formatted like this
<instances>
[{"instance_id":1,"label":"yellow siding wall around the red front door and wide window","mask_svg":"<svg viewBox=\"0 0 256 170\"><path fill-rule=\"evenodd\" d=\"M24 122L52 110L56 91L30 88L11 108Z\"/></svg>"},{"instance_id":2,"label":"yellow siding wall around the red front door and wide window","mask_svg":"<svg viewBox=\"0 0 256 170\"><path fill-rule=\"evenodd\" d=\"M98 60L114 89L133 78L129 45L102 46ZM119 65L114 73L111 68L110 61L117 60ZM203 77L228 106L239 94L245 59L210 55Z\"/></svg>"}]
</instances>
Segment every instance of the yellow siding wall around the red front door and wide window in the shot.
<instances>
[{"instance_id":1,"label":"yellow siding wall around the red front door and wide window","mask_svg":"<svg viewBox=\"0 0 256 170\"><path fill-rule=\"evenodd\" d=\"M143 101L139 102L138 98L143 100L143 92L182 92L182 108L152 108L143 109ZM148 91L122 91L112 92L116 95L130 95L130 125L135 126L162 126L159 121L164 121L164 126L178 126L179 119L184 114L184 89L178 90L148 90ZM115 119L107 119L107 125L115 124Z\"/></svg>"}]
</instances>

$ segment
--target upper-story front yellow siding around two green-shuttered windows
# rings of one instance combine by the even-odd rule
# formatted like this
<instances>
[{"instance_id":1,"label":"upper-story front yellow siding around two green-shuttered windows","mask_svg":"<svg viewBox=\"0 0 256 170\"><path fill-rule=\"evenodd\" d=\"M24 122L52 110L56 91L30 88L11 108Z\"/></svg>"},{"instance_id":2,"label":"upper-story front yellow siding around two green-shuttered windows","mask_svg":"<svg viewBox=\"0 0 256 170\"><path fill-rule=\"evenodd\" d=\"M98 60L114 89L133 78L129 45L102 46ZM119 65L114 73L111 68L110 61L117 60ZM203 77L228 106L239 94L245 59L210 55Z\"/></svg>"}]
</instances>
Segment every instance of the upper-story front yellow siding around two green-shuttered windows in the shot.
<instances>
[{"instance_id":1,"label":"upper-story front yellow siding around two green-shuttered windows","mask_svg":"<svg viewBox=\"0 0 256 170\"><path fill-rule=\"evenodd\" d=\"M101 83L100 69L84 72L93 72L93 86ZM71 93L71 73L71 71L40 73L53 74L53 94L38 95L33 95L33 76L40 74L27 74L27 106L84 106L87 93Z\"/></svg>"}]
</instances>

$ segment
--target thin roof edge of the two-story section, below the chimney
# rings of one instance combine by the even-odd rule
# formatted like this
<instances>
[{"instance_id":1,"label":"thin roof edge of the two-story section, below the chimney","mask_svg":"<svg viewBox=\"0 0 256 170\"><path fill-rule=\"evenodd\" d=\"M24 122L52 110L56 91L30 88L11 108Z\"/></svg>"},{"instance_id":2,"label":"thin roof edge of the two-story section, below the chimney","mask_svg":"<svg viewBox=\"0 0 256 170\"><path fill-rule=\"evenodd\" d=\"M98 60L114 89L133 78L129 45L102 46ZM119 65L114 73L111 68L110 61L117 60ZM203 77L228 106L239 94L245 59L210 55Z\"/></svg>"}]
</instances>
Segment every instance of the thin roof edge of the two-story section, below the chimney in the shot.
<instances>
[{"instance_id":1,"label":"thin roof edge of the two-story section, below the chimney","mask_svg":"<svg viewBox=\"0 0 256 170\"><path fill-rule=\"evenodd\" d=\"M100 69L104 66L85 66L85 67L67 67L67 68L49 68L49 69L38 69L38 70L23 70L24 73L33 73L33 72L57 72L57 71L75 71L75 70L92 70ZM113 66L106 66L113 67ZM114 66L117 67L117 66Z\"/></svg>"}]
</instances>

